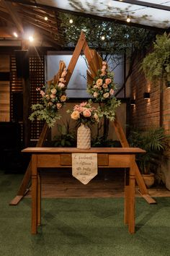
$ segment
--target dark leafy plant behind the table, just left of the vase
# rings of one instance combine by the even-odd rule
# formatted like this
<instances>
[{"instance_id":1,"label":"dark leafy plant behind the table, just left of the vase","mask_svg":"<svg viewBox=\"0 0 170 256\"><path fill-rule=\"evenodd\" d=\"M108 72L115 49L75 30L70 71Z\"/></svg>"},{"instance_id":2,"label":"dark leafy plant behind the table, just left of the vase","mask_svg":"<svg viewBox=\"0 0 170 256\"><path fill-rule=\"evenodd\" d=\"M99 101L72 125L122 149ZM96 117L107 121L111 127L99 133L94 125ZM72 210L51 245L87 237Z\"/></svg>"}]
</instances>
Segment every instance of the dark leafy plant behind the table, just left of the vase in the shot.
<instances>
[{"instance_id":1,"label":"dark leafy plant behind the table, just left of the vase","mask_svg":"<svg viewBox=\"0 0 170 256\"><path fill-rule=\"evenodd\" d=\"M54 140L54 147L64 148L64 147L74 147L76 144L75 135L73 132L69 132L69 128L65 124L57 124L58 132L60 135L56 135Z\"/></svg>"}]
</instances>

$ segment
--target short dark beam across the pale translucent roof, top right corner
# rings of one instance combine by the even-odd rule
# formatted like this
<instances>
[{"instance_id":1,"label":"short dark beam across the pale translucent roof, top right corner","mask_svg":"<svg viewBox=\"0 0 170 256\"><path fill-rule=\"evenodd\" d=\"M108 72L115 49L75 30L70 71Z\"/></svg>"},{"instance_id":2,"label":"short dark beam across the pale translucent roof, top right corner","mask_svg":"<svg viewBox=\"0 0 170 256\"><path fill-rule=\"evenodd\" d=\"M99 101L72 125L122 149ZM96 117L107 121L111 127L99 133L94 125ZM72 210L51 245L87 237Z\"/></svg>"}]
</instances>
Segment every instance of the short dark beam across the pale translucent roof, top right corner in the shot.
<instances>
[{"instance_id":1,"label":"short dark beam across the pale translucent roof, top right corner","mask_svg":"<svg viewBox=\"0 0 170 256\"><path fill-rule=\"evenodd\" d=\"M112 0L112 1L119 1L119 0ZM163 5L163 4L153 4L150 3L149 1L137 1L137 0L123 0L119 1L120 4L126 3L126 4L135 4L135 5L140 5L141 7L148 7L148 8L153 8L153 9L161 9L164 11L170 11L170 7Z\"/></svg>"}]
</instances>

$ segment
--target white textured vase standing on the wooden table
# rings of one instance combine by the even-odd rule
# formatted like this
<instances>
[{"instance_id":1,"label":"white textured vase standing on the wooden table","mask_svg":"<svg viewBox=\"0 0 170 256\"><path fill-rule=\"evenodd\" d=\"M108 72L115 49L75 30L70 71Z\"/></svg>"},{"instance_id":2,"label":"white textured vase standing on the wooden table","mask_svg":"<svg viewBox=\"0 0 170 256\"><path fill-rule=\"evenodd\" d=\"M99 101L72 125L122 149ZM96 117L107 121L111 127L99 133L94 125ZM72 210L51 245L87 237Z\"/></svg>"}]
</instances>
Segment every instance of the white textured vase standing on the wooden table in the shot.
<instances>
[{"instance_id":1,"label":"white textured vase standing on the wooden table","mask_svg":"<svg viewBox=\"0 0 170 256\"><path fill-rule=\"evenodd\" d=\"M77 148L91 148L91 129L85 124L81 124L77 129Z\"/></svg>"}]
</instances>

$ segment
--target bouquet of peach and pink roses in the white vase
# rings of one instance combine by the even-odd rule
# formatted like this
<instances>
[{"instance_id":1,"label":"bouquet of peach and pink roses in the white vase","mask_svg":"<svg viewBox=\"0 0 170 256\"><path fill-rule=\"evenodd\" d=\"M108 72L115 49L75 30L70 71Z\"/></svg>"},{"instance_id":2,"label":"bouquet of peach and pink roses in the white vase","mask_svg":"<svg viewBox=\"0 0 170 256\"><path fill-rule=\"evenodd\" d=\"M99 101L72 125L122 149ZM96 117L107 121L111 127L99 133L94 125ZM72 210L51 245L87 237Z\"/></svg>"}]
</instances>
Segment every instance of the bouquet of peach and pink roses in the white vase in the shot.
<instances>
[{"instance_id":1,"label":"bouquet of peach and pink roses in the white vase","mask_svg":"<svg viewBox=\"0 0 170 256\"><path fill-rule=\"evenodd\" d=\"M68 113L71 113L71 119L82 124L94 124L99 121L97 108L91 105L90 100L74 106L73 111L68 110Z\"/></svg>"}]
</instances>

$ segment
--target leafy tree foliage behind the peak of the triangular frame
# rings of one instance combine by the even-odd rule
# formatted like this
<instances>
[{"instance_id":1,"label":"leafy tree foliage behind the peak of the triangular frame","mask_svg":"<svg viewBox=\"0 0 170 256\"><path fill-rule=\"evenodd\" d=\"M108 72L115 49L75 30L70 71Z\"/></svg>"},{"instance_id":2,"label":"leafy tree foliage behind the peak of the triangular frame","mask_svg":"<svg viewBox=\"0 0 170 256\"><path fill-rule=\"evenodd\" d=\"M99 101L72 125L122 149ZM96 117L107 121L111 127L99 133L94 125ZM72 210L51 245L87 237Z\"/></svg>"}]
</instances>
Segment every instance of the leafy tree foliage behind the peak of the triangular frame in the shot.
<instances>
[{"instance_id":1,"label":"leafy tree foliage behind the peak of the triangular frame","mask_svg":"<svg viewBox=\"0 0 170 256\"><path fill-rule=\"evenodd\" d=\"M81 30L84 30L90 48L96 49L106 61L111 58L110 61L114 61L115 65L119 64L120 60L112 54L126 52L127 56L130 56L134 49L146 48L153 38L153 33L149 30L120 25L114 21L97 20L91 17L63 14L63 12L59 17L66 47L76 46ZM72 24L69 23L70 19L73 20ZM102 36L105 40L102 40Z\"/></svg>"}]
</instances>

